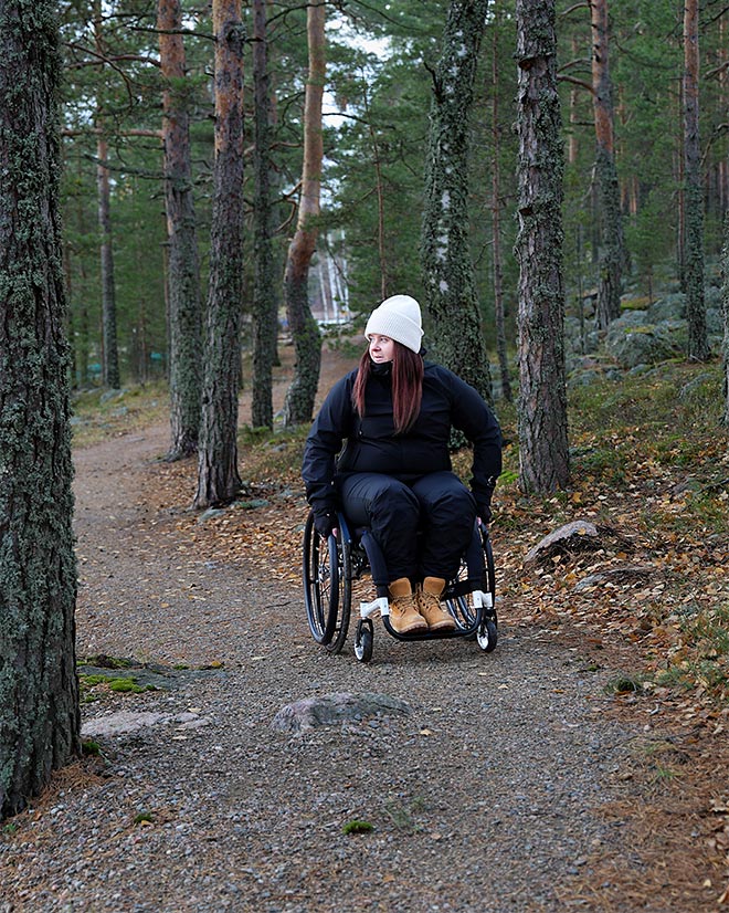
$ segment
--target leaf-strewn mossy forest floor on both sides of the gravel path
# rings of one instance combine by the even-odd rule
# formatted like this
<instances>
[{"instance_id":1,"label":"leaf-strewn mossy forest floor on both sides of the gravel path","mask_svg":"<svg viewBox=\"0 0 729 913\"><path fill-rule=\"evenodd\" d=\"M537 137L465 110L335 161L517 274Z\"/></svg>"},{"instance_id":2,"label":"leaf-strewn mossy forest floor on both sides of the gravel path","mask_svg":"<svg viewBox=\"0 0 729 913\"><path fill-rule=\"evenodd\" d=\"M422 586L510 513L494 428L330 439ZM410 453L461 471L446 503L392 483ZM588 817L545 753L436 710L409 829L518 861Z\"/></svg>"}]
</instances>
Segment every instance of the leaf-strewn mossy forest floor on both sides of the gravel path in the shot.
<instances>
[{"instance_id":1,"label":"leaf-strewn mossy forest floor on both sides of the gravel path","mask_svg":"<svg viewBox=\"0 0 729 913\"><path fill-rule=\"evenodd\" d=\"M341 374L341 358L335 360L323 387ZM694 867L696 853L689 861L686 849L698 843L714 873L705 886L729 903L729 449L721 397L718 364L670 361L571 388L572 481L549 496L519 492L514 408L496 405L506 440L492 524L500 617L550 632L588 668L615 670L606 685L615 714L641 720L646 733L659 721L662 736L636 745L624 772L635 784L635 839L655 862L651 878L631 886L635 898L677 878L682 857ZM86 396L76 406L75 443L158 421L160 402L163 388L104 403ZM241 502L254 510L229 510L204 524L181 511L179 523L194 525L198 539L214 539L221 557L244 548L262 569L275 564L297 584L304 438L305 429L243 424ZM468 462L467 452L456 454L466 475ZM189 505L194 473L194 461L161 463L156 496ZM592 523L598 537L572 538L525 564L545 536L575 520ZM608 882L621 884L614 863ZM599 904L585 900L610 909L604 892Z\"/></svg>"}]
</instances>

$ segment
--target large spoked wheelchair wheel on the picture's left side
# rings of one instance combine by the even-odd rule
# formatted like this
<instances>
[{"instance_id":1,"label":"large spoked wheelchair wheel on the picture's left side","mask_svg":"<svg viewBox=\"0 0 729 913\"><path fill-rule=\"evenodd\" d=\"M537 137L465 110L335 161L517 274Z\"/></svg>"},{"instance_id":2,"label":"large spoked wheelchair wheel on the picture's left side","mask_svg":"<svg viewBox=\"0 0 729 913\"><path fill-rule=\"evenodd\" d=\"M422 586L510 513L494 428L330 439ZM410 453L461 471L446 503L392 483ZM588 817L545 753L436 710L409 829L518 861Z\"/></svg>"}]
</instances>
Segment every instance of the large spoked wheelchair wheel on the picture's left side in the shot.
<instances>
[{"instance_id":1,"label":"large spoked wheelchair wheel on the picture's left side","mask_svg":"<svg viewBox=\"0 0 729 913\"><path fill-rule=\"evenodd\" d=\"M330 653L338 653L347 638L351 609L349 543L335 536L324 539L309 514L303 550L304 601L311 637Z\"/></svg>"}]
</instances>

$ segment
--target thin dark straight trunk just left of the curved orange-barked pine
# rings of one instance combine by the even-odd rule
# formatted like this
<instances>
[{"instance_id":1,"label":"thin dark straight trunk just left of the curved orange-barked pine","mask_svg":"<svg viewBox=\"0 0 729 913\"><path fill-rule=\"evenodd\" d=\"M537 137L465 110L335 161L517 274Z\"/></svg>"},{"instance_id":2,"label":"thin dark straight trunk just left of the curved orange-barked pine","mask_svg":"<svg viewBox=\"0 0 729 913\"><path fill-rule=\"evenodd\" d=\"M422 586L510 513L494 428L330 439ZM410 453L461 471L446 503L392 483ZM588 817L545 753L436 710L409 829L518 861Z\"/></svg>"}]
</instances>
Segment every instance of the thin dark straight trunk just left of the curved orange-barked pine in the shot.
<instances>
[{"instance_id":1,"label":"thin dark straight trunk just left of the curved orange-barked pine","mask_svg":"<svg viewBox=\"0 0 729 913\"><path fill-rule=\"evenodd\" d=\"M278 318L274 283L271 209L271 86L268 80L266 0L253 0L253 382L251 423L273 428L273 366Z\"/></svg>"}]
</instances>

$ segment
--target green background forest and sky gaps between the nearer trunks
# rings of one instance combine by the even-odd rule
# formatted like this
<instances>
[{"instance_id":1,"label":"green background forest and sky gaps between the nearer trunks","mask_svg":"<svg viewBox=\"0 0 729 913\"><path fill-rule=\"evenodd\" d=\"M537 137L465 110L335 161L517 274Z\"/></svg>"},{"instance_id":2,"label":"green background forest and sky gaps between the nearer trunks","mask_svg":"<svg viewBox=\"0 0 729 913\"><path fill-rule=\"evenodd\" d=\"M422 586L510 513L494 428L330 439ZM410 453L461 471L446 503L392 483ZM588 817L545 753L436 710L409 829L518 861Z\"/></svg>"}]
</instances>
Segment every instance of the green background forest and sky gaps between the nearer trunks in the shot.
<instances>
[{"instance_id":1,"label":"green background forest and sky gaps between the nearer trunks","mask_svg":"<svg viewBox=\"0 0 729 913\"><path fill-rule=\"evenodd\" d=\"M593 4L593 7L603 4ZM120 377L110 386L163 377L168 365L167 231L161 122L166 81L159 66L157 4L120 0L62 4L67 280L74 384L104 380L104 304L113 307ZM186 74L178 95L190 116L201 282L209 271L213 175L213 42L208 7L183 3ZM646 308L685 291L684 3L610 3L611 117L624 235L623 309ZM302 176L306 6L267 2L274 267L282 324L286 250L296 225ZM243 206L243 344L253 307L253 124L251 4L246 29ZM309 301L320 321L368 313L384 294L422 300L419 258L424 150L445 7L435 0L335 2L326 9L324 168ZM722 213L729 196L727 15L706 2L699 18L700 175L709 338L720 334ZM568 372L595 348L595 305L610 234L595 155L599 126L591 75L593 35L587 3L557 3L558 80L564 172L564 286ZM496 360L499 308L504 340L516 337L518 264L517 67L514 4L495 0L480 43L469 156L468 237L486 345ZM104 263L104 270L102 270ZM204 300L204 298L203 298ZM670 300L670 298L669 298ZM496 307L495 305L498 305ZM614 315L613 315L614 316ZM107 327L108 332L108 327ZM714 334L714 335L711 335ZM107 337L108 338L108 337ZM106 344L108 345L108 343ZM667 340L664 355L684 342ZM508 377L495 372L503 387Z\"/></svg>"}]
</instances>

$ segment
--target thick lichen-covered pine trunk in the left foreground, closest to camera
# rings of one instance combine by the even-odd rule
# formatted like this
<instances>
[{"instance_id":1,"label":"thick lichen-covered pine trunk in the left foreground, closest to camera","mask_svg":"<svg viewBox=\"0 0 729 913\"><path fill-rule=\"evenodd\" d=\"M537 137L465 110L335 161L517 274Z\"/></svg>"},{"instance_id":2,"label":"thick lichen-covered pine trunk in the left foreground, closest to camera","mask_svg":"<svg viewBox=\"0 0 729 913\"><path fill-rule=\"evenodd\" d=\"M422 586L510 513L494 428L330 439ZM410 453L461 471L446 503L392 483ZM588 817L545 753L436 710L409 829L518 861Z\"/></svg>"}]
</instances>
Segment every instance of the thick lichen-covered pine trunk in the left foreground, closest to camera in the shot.
<instances>
[{"instance_id":1,"label":"thick lichen-covered pine trunk in the left foreground, closest to camera","mask_svg":"<svg viewBox=\"0 0 729 913\"><path fill-rule=\"evenodd\" d=\"M55 10L0 0L0 817L81 749Z\"/></svg>"}]
</instances>

